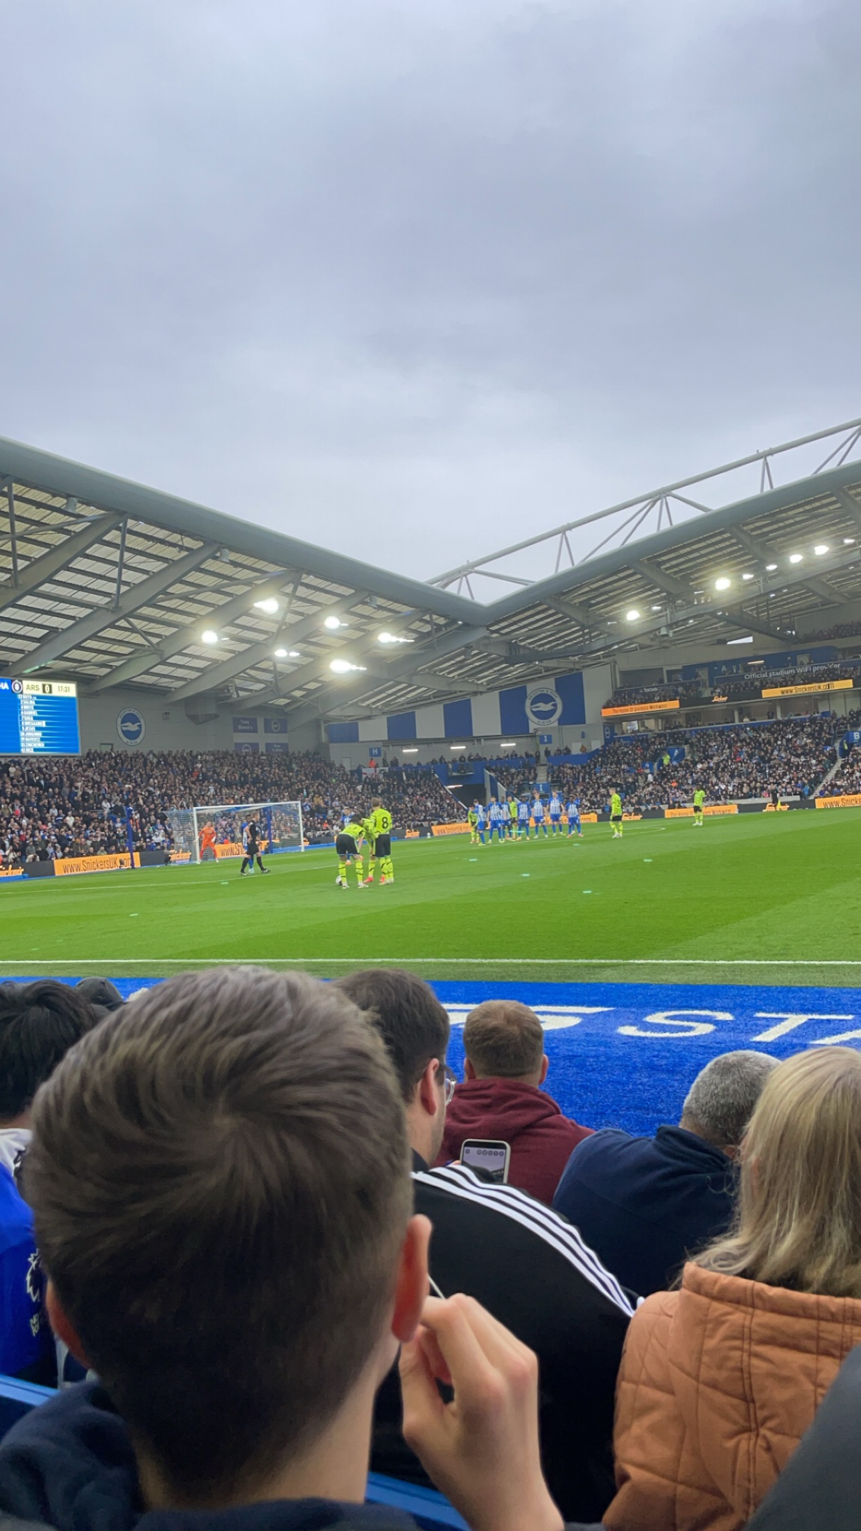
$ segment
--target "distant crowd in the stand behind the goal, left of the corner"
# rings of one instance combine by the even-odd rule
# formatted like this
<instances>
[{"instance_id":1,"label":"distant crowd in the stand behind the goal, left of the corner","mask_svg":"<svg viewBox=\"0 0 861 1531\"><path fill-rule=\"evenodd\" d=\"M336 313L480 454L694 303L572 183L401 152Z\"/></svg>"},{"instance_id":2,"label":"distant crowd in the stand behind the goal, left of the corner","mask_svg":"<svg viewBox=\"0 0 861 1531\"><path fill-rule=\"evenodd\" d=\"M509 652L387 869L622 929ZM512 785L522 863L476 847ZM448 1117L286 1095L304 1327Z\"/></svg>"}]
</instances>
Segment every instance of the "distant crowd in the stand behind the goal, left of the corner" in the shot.
<instances>
[{"instance_id":1,"label":"distant crowd in the stand behind the goal, left of the corner","mask_svg":"<svg viewBox=\"0 0 861 1531\"><path fill-rule=\"evenodd\" d=\"M345 810L383 793L395 833L455 822L464 808L435 772L397 766L369 776L319 755L233 750L109 753L0 761L0 863L170 850L170 808L216 802L302 802L306 839L329 841Z\"/></svg>"}]
</instances>

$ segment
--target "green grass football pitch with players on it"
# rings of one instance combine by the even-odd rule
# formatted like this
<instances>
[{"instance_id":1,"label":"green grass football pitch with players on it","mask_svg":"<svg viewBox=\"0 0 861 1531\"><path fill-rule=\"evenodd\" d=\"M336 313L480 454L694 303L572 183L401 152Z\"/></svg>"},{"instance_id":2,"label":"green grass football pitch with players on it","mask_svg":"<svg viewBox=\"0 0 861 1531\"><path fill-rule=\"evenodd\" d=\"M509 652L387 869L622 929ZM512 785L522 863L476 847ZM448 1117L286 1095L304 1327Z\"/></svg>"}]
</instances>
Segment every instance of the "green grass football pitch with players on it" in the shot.
<instances>
[{"instance_id":1,"label":"green grass football pitch with players on it","mask_svg":"<svg viewBox=\"0 0 861 1531\"><path fill-rule=\"evenodd\" d=\"M861 811L585 825L582 841L395 842L392 886L334 851L0 883L0 972L264 961L435 978L861 983Z\"/></svg>"}]
</instances>

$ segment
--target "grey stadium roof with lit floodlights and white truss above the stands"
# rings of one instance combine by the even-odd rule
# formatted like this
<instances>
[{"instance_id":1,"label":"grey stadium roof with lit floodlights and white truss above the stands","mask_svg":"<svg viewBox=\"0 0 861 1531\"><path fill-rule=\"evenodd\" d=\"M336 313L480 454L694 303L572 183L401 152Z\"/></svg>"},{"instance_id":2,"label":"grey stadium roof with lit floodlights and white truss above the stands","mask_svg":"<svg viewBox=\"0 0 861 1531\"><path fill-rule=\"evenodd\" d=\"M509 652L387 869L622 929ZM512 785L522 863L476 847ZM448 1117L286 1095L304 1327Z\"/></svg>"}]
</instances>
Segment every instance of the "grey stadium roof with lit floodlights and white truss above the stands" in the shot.
<instances>
[{"instance_id":1,"label":"grey stadium roof with lit floodlights and white truss above the stands","mask_svg":"<svg viewBox=\"0 0 861 1531\"><path fill-rule=\"evenodd\" d=\"M856 419L423 583L0 439L0 674L306 721L631 652L660 663L669 643L787 646L797 623L836 623L861 600L859 458ZM751 473L740 498L703 504Z\"/></svg>"}]
</instances>

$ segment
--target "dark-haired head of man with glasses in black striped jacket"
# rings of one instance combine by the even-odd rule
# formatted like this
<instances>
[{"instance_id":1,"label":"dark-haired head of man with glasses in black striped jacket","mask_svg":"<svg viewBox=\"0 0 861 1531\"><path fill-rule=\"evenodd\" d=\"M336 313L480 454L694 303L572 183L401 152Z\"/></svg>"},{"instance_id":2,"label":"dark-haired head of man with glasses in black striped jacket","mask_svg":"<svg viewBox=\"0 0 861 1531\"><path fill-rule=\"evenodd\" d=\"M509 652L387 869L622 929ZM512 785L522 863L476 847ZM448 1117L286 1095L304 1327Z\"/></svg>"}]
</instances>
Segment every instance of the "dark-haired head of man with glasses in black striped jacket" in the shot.
<instances>
[{"instance_id":1,"label":"dark-haired head of man with glasses in black striped jacket","mask_svg":"<svg viewBox=\"0 0 861 1531\"><path fill-rule=\"evenodd\" d=\"M446 1127L447 1012L429 984L398 968L351 972L336 987L368 1010L398 1076L411 1147L434 1164Z\"/></svg>"}]
</instances>

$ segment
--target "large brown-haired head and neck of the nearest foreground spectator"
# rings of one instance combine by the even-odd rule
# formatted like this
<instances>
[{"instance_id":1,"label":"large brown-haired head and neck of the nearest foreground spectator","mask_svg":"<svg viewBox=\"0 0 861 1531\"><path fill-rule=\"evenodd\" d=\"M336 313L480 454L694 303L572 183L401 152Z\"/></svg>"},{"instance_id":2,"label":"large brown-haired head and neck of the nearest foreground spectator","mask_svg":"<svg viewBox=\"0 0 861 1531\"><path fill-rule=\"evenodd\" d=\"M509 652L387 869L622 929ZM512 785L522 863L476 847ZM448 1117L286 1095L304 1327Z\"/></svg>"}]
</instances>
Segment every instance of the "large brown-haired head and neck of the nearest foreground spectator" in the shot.
<instances>
[{"instance_id":1,"label":"large brown-haired head and neck of the nearest foreground spectator","mask_svg":"<svg viewBox=\"0 0 861 1531\"><path fill-rule=\"evenodd\" d=\"M332 984L184 974L40 1090L28 1162L55 1332L93 1366L150 1505L293 1497L368 1439L427 1291L391 1064Z\"/></svg>"}]
</instances>

